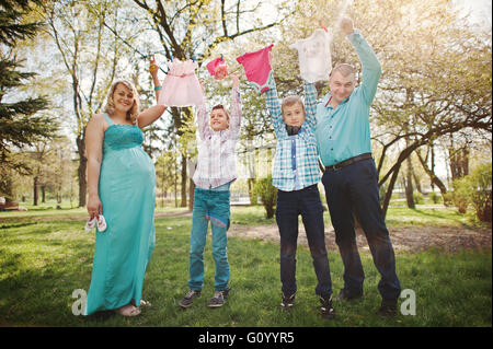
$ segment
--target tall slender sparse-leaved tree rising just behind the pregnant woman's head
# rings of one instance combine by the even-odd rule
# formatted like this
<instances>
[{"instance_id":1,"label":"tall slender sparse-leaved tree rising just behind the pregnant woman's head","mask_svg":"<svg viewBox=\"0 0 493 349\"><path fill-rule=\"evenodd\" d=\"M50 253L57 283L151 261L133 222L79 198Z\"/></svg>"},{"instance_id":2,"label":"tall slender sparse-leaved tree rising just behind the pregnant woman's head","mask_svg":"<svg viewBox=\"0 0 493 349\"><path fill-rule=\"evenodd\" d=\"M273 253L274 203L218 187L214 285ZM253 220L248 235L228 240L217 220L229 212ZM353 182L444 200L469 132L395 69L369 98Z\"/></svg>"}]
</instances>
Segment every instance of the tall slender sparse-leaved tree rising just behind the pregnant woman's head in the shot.
<instances>
[{"instance_id":1,"label":"tall slender sparse-leaved tree rising just behind the pregnant woman's head","mask_svg":"<svg viewBox=\"0 0 493 349\"><path fill-rule=\"evenodd\" d=\"M79 206L85 206L85 126L99 113L115 79L123 44L113 33L122 30L113 1L45 1L44 14L70 81L72 116L79 153ZM107 30L112 28L112 31ZM121 33L122 34L122 33Z\"/></svg>"}]
</instances>

